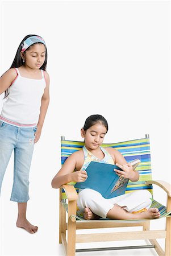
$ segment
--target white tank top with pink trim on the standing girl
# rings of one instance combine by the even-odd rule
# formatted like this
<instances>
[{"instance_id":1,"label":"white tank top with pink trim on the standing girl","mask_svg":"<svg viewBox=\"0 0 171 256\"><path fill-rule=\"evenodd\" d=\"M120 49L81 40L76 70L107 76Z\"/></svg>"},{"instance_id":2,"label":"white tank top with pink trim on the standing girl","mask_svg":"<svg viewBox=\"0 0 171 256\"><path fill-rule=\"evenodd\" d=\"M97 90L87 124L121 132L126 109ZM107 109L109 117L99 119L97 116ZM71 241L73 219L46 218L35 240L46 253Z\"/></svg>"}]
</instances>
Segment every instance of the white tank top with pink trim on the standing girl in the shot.
<instances>
[{"instance_id":1,"label":"white tank top with pink trim on the standing girl","mask_svg":"<svg viewBox=\"0 0 171 256\"><path fill-rule=\"evenodd\" d=\"M41 69L40 69L41 70ZM18 75L9 88L0 119L15 126L35 126L40 114L41 97L46 86L43 70L41 79L30 79Z\"/></svg>"}]
</instances>

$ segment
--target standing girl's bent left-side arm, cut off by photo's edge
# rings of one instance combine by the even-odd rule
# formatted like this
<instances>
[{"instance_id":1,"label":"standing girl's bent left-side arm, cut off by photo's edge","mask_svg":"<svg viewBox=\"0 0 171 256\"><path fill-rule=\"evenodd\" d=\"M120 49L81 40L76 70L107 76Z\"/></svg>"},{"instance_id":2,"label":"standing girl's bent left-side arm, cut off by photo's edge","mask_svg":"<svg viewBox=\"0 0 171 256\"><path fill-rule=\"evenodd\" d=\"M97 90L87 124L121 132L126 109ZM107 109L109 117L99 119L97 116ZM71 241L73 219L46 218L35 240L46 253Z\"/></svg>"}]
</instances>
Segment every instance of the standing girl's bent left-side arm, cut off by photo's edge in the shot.
<instances>
[{"instance_id":1,"label":"standing girl's bent left-side arm, cut off by photo's edge","mask_svg":"<svg viewBox=\"0 0 171 256\"><path fill-rule=\"evenodd\" d=\"M0 95L10 87L12 81L14 81L17 73L14 68L10 68L0 77Z\"/></svg>"}]
</instances>

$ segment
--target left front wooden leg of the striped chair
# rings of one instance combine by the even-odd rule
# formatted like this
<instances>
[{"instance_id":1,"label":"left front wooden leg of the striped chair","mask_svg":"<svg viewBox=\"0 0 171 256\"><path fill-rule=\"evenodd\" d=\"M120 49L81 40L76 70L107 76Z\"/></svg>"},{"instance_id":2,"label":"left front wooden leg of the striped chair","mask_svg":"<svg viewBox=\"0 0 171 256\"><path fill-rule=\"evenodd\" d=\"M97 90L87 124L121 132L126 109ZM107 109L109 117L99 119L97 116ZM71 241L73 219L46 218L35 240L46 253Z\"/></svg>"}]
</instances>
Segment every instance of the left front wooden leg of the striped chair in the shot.
<instances>
[{"instance_id":1,"label":"left front wooden leg of the striped chair","mask_svg":"<svg viewBox=\"0 0 171 256\"><path fill-rule=\"evenodd\" d=\"M76 255L76 221L70 219L71 214L76 213L77 202L69 201L68 204L68 242L67 242L67 256Z\"/></svg>"}]
</instances>

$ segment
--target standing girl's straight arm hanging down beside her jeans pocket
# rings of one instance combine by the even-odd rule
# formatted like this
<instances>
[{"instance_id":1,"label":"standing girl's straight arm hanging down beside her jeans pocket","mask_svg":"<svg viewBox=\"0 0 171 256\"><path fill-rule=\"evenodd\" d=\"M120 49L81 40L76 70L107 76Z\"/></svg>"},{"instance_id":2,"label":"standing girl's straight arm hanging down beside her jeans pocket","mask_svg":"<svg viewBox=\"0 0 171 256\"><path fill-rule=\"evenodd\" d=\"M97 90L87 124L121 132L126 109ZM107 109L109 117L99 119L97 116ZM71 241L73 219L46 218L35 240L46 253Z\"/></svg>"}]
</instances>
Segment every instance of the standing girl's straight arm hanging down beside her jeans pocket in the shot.
<instances>
[{"instance_id":1,"label":"standing girl's straight arm hanging down beside her jeans pocket","mask_svg":"<svg viewBox=\"0 0 171 256\"><path fill-rule=\"evenodd\" d=\"M40 106L40 115L39 115L39 120L37 123L37 130L35 133L35 140L34 142L36 143L37 141L39 141L40 135L41 135L41 129L43 127L43 123L44 123L44 119L45 119L45 115L47 113L47 109L48 109L48 105L49 105L49 75L47 72L45 73L45 81L46 81L46 86L44 89L44 94L41 98L41 106Z\"/></svg>"}]
</instances>

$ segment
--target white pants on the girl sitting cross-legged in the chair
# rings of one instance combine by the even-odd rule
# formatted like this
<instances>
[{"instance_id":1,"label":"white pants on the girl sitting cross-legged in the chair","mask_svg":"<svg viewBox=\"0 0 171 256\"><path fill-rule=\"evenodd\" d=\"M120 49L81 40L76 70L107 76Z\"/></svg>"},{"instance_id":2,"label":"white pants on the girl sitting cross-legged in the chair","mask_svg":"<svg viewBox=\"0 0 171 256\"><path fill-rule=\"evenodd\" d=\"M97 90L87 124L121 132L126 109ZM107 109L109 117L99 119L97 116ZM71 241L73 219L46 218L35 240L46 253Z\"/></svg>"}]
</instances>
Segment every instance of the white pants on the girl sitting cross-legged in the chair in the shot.
<instances>
[{"instance_id":1,"label":"white pants on the girl sitting cross-legged in the chair","mask_svg":"<svg viewBox=\"0 0 171 256\"><path fill-rule=\"evenodd\" d=\"M152 204L151 198L152 195L147 189L105 199L101 193L85 188L78 194L77 205L82 213L84 213L85 207L89 207L93 213L106 218L114 204L124 207L128 212L136 212L144 208L149 209Z\"/></svg>"}]
</instances>

